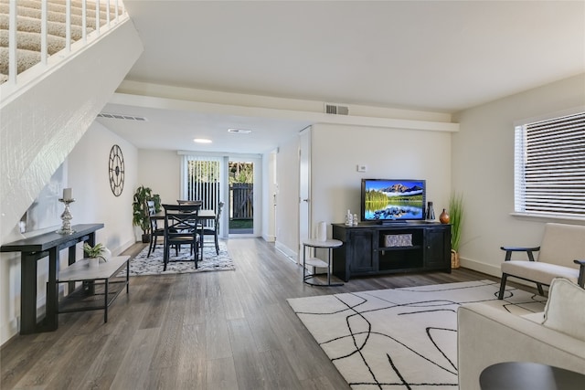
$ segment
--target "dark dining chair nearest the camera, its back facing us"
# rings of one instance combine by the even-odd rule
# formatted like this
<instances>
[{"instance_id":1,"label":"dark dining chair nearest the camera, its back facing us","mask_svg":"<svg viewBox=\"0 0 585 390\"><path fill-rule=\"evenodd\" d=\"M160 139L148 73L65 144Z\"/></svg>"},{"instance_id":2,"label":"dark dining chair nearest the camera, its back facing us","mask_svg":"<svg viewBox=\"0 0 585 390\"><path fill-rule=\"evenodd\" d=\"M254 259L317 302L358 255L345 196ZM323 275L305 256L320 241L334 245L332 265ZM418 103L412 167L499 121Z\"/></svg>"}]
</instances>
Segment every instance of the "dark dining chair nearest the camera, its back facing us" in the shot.
<instances>
[{"instance_id":1,"label":"dark dining chair nearest the camera, its back facing us","mask_svg":"<svg viewBox=\"0 0 585 390\"><path fill-rule=\"evenodd\" d=\"M178 251L182 245L191 247L192 261L195 262L197 269L198 245L201 240L197 228L197 214L201 205L163 205L163 208L165 209L165 255L163 257L165 266L163 270L166 270L169 262L171 247L176 246Z\"/></svg>"}]
</instances>

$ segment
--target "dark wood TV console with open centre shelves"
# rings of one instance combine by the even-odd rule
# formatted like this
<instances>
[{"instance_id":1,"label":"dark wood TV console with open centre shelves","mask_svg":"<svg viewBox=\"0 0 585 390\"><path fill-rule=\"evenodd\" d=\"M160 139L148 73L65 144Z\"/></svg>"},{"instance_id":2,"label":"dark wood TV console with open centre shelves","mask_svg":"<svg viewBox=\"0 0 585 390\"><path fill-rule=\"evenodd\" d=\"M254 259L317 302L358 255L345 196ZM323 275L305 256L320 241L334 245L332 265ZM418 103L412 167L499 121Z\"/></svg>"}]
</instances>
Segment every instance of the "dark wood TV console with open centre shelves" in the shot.
<instances>
[{"instance_id":1,"label":"dark wood TV console with open centre shelves","mask_svg":"<svg viewBox=\"0 0 585 390\"><path fill-rule=\"evenodd\" d=\"M345 281L382 273L451 272L451 225L333 224L333 238L344 242L333 251L333 273Z\"/></svg>"}]
</instances>

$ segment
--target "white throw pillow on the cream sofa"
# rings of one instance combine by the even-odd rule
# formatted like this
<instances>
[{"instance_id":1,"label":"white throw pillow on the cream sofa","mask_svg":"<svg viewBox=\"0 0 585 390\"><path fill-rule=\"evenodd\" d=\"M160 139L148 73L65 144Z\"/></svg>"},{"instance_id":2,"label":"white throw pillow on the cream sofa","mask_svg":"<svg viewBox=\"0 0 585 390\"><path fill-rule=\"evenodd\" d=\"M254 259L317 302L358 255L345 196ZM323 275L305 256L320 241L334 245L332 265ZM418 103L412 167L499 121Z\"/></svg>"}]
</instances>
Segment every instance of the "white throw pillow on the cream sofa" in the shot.
<instances>
[{"instance_id":1,"label":"white throw pillow on the cream sofa","mask_svg":"<svg viewBox=\"0 0 585 390\"><path fill-rule=\"evenodd\" d=\"M553 279L542 324L585 342L585 289L567 279Z\"/></svg>"}]
</instances>

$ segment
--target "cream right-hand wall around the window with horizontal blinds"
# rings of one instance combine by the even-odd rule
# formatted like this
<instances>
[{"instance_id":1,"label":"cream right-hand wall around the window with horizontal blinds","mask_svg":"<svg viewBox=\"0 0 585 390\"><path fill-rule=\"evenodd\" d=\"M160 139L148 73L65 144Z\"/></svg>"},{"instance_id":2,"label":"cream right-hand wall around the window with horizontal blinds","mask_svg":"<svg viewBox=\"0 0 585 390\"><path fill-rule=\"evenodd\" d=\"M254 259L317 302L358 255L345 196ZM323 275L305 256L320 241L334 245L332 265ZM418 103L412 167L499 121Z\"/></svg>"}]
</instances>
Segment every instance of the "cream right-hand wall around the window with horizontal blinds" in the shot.
<instances>
[{"instance_id":1,"label":"cream right-hand wall around the window with horizontal blinds","mask_svg":"<svg viewBox=\"0 0 585 390\"><path fill-rule=\"evenodd\" d=\"M537 246L545 219L514 211L514 123L585 107L585 74L459 113L453 134L453 188L463 194L463 267L500 275L501 246ZM575 223L575 222L572 222ZM585 223L583 221L582 223Z\"/></svg>"}]
</instances>

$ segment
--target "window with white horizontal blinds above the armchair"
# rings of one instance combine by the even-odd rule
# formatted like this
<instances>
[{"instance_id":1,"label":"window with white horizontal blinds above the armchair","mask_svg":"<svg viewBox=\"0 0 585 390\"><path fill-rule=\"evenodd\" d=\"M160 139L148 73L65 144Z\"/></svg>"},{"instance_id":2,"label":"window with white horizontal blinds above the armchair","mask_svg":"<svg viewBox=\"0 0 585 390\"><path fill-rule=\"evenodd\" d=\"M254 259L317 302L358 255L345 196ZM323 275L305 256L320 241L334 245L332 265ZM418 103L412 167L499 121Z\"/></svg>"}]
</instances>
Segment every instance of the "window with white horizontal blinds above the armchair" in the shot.
<instances>
[{"instance_id":1,"label":"window with white horizontal blinds above the armchair","mask_svg":"<svg viewBox=\"0 0 585 390\"><path fill-rule=\"evenodd\" d=\"M585 217L585 112L516 126L515 211Z\"/></svg>"}]
</instances>

